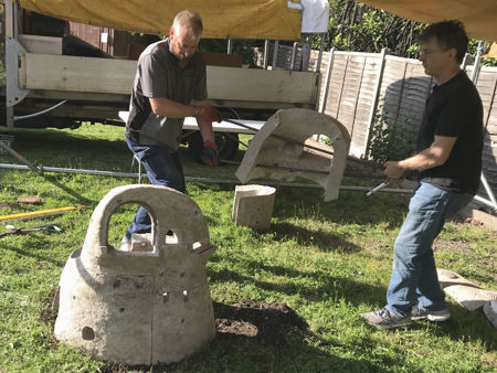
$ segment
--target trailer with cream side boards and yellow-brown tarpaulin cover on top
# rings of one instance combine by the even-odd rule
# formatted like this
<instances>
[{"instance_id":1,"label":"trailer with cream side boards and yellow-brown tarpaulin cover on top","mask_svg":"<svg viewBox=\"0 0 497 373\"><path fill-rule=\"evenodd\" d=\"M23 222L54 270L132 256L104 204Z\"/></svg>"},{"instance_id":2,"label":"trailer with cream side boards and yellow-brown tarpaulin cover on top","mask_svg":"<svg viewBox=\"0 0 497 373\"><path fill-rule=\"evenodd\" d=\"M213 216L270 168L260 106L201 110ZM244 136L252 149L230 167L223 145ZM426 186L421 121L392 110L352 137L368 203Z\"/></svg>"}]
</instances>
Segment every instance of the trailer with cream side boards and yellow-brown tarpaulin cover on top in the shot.
<instances>
[{"instance_id":1,"label":"trailer with cream side boards and yellow-brown tarpaulin cover on top","mask_svg":"<svg viewBox=\"0 0 497 373\"><path fill-rule=\"evenodd\" d=\"M316 24L326 31L328 2L321 1L320 12L316 10L317 3L307 0L190 0L181 3L155 0L144 9L135 1L91 0L83 7L75 0L19 0L18 3L6 0L6 84L2 89L6 106L1 119L9 128L77 128L84 121L121 126L119 111L128 108L136 73L134 60L64 55L64 38L22 33L19 22L22 9L64 21L167 34L177 11L188 8L203 18L202 38L267 41L300 40L303 32L305 35L316 32ZM305 14L314 20L319 14L320 23L306 21ZM281 108L316 108L319 98L319 68L313 72L208 65L207 82L210 105L233 118L265 120ZM229 159L233 154L233 141L243 131L231 129L228 136L224 127L214 125L214 130L221 148L231 149L230 153L223 153ZM184 130L194 128L190 126ZM190 136L189 143L195 137Z\"/></svg>"}]
</instances>

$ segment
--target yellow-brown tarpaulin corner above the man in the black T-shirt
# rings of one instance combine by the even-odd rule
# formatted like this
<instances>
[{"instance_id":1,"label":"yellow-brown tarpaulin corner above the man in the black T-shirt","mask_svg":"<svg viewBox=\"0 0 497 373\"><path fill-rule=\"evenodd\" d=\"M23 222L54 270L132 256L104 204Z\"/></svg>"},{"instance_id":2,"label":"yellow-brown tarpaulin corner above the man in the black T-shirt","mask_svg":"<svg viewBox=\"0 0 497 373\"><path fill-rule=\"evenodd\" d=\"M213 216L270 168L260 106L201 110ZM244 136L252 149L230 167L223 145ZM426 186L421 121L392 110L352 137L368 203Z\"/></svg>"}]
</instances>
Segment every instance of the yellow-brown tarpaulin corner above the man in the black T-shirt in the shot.
<instances>
[{"instance_id":1,"label":"yellow-brown tarpaulin corner above the man in the black T-shirt","mask_svg":"<svg viewBox=\"0 0 497 373\"><path fill-rule=\"evenodd\" d=\"M497 40L497 0L360 0L413 21L459 20L469 36Z\"/></svg>"}]
</instances>

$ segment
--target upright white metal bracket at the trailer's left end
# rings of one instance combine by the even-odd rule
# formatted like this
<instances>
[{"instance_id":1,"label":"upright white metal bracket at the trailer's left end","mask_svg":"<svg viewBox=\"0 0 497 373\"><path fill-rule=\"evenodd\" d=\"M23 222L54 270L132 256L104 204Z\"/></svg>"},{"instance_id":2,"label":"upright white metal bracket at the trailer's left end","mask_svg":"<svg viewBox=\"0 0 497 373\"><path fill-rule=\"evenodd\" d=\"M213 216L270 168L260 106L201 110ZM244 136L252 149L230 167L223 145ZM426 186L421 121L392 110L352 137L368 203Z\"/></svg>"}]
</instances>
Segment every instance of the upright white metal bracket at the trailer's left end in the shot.
<instances>
[{"instance_id":1,"label":"upright white metal bracket at the trailer's left end","mask_svg":"<svg viewBox=\"0 0 497 373\"><path fill-rule=\"evenodd\" d=\"M29 89L19 87L19 53L28 53L14 38L7 36L6 44L6 105L12 107L19 104Z\"/></svg>"}]
</instances>

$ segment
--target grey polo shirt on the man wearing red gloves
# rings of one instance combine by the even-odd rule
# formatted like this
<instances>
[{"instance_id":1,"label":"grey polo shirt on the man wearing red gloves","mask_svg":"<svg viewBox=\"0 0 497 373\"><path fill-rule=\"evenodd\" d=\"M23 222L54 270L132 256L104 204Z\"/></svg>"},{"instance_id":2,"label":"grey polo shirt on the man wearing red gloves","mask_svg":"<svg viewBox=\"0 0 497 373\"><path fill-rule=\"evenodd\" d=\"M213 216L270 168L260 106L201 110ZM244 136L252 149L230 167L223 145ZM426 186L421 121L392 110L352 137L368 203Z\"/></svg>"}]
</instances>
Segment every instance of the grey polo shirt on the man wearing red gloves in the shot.
<instances>
[{"instance_id":1,"label":"grey polo shirt on the man wearing red gloves","mask_svg":"<svg viewBox=\"0 0 497 373\"><path fill-rule=\"evenodd\" d=\"M165 97L183 105L207 99L205 64L199 53L180 70L166 39L147 46L138 60L126 136L139 145L162 145L175 152L184 119L154 114L149 97Z\"/></svg>"}]
</instances>

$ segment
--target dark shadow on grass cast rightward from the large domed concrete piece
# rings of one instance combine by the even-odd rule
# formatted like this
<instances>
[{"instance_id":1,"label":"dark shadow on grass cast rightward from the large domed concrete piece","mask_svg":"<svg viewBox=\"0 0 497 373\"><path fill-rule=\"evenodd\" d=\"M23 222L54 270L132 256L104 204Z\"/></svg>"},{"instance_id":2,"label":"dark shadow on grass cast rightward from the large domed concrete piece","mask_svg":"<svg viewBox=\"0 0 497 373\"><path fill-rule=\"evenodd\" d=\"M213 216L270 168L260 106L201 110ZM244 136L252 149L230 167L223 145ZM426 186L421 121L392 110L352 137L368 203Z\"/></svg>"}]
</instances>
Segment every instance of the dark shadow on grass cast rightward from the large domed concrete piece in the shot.
<instances>
[{"instance_id":1,"label":"dark shadow on grass cast rightward from the large domed concrete piece","mask_svg":"<svg viewBox=\"0 0 497 373\"><path fill-rule=\"evenodd\" d=\"M305 320L281 303L250 299L237 305L214 302L215 339L198 353L176 364L159 364L150 372L370 372L399 364L341 358L327 351L345 348L313 333Z\"/></svg>"}]
</instances>

